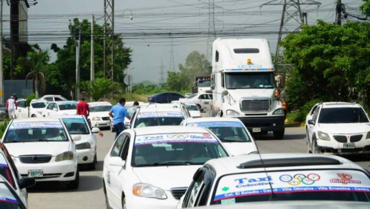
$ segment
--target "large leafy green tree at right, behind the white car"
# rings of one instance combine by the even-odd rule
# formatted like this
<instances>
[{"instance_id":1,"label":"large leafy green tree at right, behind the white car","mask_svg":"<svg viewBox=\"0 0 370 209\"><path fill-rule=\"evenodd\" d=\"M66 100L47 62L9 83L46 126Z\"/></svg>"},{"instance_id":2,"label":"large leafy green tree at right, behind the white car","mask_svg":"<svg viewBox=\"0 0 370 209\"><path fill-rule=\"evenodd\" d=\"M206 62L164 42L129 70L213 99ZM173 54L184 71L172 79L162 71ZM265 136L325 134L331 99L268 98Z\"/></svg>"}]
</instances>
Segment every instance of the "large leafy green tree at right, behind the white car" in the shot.
<instances>
[{"instance_id":1,"label":"large leafy green tree at right, behind the white car","mask_svg":"<svg viewBox=\"0 0 370 209\"><path fill-rule=\"evenodd\" d=\"M339 26L319 20L282 41L287 62L288 102L299 108L311 99L356 101L370 89L370 23Z\"/></svg>"}]
</instances>

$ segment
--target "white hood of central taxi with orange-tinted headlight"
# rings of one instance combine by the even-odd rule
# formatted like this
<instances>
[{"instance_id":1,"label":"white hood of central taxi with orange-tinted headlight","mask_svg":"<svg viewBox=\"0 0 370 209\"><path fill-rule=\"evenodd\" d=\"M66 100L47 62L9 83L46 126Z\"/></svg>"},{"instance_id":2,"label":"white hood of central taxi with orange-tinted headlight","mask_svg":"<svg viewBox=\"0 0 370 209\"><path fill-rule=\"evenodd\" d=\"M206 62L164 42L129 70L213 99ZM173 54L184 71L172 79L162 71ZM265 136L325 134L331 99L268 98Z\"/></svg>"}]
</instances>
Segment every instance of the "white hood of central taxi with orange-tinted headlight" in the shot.
<instances>
[{"instance_id":1,"label":"white hood of central taxi with orange-tinted headlight","mask_svg":"<svg viewBox=\"0 0 370 209\"><path fill-rule=\"evenodd\" d=\"M202 165L134 167L141 183L148 183L169 191L174 187L188 187L196 170ZM148 173L150 173L148 175Z\"/></svg>"}]
</instances>

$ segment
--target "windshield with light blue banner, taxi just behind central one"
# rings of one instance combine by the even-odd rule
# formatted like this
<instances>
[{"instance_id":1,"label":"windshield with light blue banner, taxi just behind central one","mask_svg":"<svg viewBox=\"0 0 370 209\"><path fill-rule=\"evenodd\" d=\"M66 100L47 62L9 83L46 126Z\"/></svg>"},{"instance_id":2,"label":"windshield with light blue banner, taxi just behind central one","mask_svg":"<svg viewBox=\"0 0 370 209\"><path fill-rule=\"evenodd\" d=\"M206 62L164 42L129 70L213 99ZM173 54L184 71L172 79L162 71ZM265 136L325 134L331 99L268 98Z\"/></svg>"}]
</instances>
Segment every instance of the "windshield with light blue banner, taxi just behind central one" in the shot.
<instances>
[{"instance_id":1,"label":"windshield with light blue banner, taxi just behind central one","mask_svg":"<svg viewBox=\"0 0 370 209\"><path fill-rule=\"evenodd\" d=\"M222 142L251 142L242 123L236 121L197 122L188 123L186 126L208 128Z\"/></svg>"}]
</instances>

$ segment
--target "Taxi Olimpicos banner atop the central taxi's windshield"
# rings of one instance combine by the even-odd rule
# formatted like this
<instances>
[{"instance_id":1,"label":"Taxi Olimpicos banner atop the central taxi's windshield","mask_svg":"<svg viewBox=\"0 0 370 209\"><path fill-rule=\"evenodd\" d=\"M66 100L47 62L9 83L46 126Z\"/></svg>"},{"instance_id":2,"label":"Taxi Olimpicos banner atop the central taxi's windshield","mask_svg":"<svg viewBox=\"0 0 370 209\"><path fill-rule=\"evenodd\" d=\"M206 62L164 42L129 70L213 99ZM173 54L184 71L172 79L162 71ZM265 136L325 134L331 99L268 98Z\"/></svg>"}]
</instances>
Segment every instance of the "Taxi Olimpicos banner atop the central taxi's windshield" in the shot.
<instances>
[{"instance_id":1,"label":"Taxi Olimpicos banner atop the central taxi's windshield","mask_svg":"<svg viewBox=\"0 0 370 209\"><path fill-rule=\"evenodd\" d=\"M216 138L210 133L154 134L137 136L134 146L161 143L214 143Z\"/></svg>"}]
</instances>

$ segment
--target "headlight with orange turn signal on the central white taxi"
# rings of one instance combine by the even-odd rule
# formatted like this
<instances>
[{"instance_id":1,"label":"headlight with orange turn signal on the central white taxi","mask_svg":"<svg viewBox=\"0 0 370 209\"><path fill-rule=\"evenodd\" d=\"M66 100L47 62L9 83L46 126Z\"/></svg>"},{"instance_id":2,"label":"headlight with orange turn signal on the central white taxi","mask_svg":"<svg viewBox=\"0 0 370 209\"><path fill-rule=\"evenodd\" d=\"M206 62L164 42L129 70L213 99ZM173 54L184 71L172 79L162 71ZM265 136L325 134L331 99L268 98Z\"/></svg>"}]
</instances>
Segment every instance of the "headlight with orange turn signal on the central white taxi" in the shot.
<instances>
[{"instance_id":1,"label":"headlight with orange turn signal on the central white taxi","mask_svg":"<svg viewBox=\"0 0 370 209\"><path fill-rule=\"evenodd\" d=\"M163 189L152 186L150 184L134 184L134 186L132 186L132 194L139 197L167 199L167 195Z\"/></svg>"}]
</instances>

